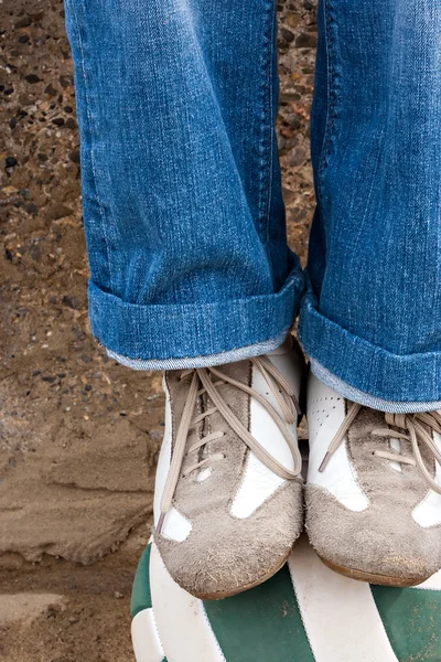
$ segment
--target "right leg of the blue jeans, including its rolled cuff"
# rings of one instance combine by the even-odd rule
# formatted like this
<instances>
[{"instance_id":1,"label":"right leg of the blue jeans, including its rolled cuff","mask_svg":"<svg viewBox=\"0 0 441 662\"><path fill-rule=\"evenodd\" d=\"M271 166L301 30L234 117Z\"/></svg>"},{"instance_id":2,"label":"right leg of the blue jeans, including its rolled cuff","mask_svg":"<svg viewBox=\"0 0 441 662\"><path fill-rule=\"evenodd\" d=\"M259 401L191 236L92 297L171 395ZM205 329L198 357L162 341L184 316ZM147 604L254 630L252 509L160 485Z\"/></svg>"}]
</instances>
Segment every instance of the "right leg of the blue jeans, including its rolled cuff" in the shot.
<instances>
[{"instance_id":1,"label":"right leg of the blue jeans, including its rolled cuff","mask_svg":"<svg viewBox=\"0 0 441 662\"><path fill-rule=\"evenodd\" d=\"M441 406L441 4L321 0L300 335L389 410Z\"/></svg>"}]
</instances>

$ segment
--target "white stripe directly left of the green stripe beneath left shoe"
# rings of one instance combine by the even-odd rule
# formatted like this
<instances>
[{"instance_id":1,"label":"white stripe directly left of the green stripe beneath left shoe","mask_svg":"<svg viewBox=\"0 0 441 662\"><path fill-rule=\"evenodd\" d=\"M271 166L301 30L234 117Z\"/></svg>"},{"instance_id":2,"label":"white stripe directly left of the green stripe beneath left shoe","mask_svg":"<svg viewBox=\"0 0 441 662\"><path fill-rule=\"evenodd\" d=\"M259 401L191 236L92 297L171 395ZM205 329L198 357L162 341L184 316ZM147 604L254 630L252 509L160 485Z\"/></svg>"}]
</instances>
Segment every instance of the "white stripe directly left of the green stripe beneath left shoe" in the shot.
<instances>
[{"instance_id":1,"label":"white stripe directly left of the green stripe beneath left shoe","mask_svg":"<svg viewBox=\"0 0 441 662\"><path fill-rule=\"evenodd\" d=\"M168 662L226 662L203 601L173 581L155 545L150 555L150 590Z\"/></svg>"}]
</instances>

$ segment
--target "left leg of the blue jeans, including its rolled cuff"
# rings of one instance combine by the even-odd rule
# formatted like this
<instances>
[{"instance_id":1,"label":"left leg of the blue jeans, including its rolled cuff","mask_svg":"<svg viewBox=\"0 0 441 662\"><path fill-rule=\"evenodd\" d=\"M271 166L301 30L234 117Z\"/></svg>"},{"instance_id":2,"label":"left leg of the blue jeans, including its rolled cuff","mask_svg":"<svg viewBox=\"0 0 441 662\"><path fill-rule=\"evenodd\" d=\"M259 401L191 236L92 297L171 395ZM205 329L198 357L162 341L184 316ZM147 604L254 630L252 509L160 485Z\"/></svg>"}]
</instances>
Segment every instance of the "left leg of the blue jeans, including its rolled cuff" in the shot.
<instances>
[{"instance_id":1,"label":"left leg of the blue jeans, including its rolled cuff","mask_svg":"<svg viewBox=\"0 0 441 662\"><path fill-rule=\"evenodd\" d=\"M133 367L280 344L303 276L275 140L273 0L66 0L93 333Z\"/></svg>"}]
</instances>

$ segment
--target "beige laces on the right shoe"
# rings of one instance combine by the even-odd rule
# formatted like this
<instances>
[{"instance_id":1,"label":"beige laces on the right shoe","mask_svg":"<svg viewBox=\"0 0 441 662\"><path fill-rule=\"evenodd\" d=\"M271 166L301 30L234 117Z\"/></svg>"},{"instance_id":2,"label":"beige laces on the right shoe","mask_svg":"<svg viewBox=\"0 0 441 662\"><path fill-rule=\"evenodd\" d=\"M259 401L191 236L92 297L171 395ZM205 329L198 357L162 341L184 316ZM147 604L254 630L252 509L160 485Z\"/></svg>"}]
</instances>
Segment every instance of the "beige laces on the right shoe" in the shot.
<instances>
[{"instance_id":1,"label":"beige laces on the right shoe","mask_svg":"<svg viewBox=\"0 0 441 662\"><path fill-rule=\"evenodd\" d=\"M362 405L356 403L352 405L335 437L331 441L326 455L320 465L319 471L322 472L325 470L327 462L343 442L343 439L347 435L347 431L356 419L361 408ZM441 434L441 414L439 412L420 414L385 414L385 421L387 426L391 427L376 428L370 431L370 435L386 437L388 439L392 438L410 441L412 457L404 456L402 453L398 451L394 452L392 450L375 450L374 455L394 462L418 467L429 488L438 492L438 494L441 494L441 485L432 478L430 471L427 469L420 450L420 446L426 445L430 453L433 456L433 459L441 466L441 452L434 444L432 435L428 433L424 427L426 425L431 431ZM400 429L397 430L395 428Z\"/></svg>"}]
</instances>

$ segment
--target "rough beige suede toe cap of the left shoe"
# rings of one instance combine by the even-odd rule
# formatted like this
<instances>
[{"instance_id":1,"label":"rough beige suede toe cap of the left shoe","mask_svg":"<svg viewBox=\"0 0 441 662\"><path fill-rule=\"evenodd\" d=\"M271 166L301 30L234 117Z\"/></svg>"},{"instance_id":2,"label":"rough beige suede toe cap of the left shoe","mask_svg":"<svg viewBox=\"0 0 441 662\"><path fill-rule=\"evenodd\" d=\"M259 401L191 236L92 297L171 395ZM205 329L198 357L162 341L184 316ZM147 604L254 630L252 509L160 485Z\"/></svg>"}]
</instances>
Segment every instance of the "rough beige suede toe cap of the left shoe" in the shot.
<instances>
[{"instance_id":1,"label":"rough beige suede toe cap of the left shoe","mask_svg":"<svg viewBox=\"0 0 441 662\"><path fill-rule=\"evenodd\" d=\"M173 579L196 597L216 599L269 578L283 565L302 531L299 489L287 485L273 500L271 508L267 504L245 520L233 517L229 509L201 513L182 543L155 534Z\"/></svg>"}]
</instances>

